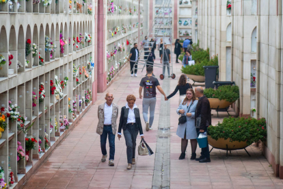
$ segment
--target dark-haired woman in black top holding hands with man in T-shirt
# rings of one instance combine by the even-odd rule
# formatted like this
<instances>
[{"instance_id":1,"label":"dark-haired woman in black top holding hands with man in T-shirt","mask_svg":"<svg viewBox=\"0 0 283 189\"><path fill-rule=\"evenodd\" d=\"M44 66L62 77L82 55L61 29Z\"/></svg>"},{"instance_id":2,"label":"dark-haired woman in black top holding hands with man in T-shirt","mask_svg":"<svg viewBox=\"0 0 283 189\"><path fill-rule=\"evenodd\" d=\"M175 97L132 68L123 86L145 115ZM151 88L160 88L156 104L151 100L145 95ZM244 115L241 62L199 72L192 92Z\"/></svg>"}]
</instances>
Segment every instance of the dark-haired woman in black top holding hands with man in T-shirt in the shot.
<instances>
[{"instance_id":1,"label":"dark-haired woman in black top holding hands with man in T-shirt","mask_svg":"<svg viewBox=\"0 0 283 189\"><path fill-rule=\"evenodd\" d=\"M180 92L180 97L179 97L179 104L180 102L185 99L186 97L186 92L189 88L193 88L193 86L191 86L191 84L187 83L187 76L185 74L180 75L180 79L178 81L178 85L176 86L174 92L171 93L171 95L169 95L168 97L166 97L167 99L170 99L171 97L173 97L174 95L176 95L176 93L179 91Z\"/></svg>"}]
</instances>

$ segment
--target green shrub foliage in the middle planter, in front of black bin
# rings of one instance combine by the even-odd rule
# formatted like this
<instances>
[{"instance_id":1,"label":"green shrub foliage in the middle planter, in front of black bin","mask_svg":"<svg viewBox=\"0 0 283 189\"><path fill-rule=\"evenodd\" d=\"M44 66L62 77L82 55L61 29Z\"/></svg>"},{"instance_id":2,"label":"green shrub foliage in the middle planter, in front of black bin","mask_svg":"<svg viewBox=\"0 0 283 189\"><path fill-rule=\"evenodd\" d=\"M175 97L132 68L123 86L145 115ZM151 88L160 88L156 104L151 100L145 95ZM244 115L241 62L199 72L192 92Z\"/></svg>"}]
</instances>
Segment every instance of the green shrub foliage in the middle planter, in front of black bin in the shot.
<instances>
[{"instance_id":1,"label":"green shrub foliage in the middle planter, in front of black bin","mask_svg":"<svg viewBox=\"0 0 283 189\"><path fill-rule=\"evenodd\" d=\"M228 102L234 102L239 99L239 87L238 86L219 86L216 90L213 88L205 88L204 95L207 98L214 98L219 100L226 100Z\"/></svg>"}]
</instances>

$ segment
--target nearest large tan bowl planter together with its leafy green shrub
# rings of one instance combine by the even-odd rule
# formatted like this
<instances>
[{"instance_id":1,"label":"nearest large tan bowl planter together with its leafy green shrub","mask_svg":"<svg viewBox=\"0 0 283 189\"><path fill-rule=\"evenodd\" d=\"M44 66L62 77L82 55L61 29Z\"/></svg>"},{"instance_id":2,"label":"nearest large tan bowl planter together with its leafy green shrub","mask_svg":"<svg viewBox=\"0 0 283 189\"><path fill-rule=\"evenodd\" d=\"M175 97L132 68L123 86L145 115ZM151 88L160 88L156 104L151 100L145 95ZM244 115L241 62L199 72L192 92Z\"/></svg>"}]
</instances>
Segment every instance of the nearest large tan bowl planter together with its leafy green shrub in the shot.
<instances>
[{"instance_id":1,"label":"nearest large tan bowl planter together with its leafy green shrub","mask_svg":"<svg viewBox=\"0 0 283 189\"><path fill-rule=\"evenodd\" d=\"M265 142L265 118L224 118L222 123L208 127L208 144L216 149L244 149L253 142Z\"/></svg>"}]
</instances>

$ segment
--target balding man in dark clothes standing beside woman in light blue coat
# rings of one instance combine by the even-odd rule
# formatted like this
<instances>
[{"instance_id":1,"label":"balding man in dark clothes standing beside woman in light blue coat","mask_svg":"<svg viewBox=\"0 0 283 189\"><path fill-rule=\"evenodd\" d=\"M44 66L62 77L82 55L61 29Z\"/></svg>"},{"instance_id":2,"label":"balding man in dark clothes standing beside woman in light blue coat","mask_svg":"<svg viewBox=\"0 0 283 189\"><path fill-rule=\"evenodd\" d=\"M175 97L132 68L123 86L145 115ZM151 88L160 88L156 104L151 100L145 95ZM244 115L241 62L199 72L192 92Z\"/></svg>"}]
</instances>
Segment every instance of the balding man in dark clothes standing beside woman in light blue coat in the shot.
<instances>
[{"instance_id":1,"label":"balding man in dark clothes standing beside woman in light blue coat","mask_svg":"<svg viewBox=\"0 0 283 189\"><path fill-rule=\"evenodd\" d=\"M207 127L211 125L211 105L204 95L204 89L202 87L195 88L196 97L198 97L198 105L195 112L195 125L198 133L207 132ZM211 156L209 154L208 142L205 148L202 148L200 157L196 158L196 161L200 163L211 162Z\"/></svg>"}]
</instances>

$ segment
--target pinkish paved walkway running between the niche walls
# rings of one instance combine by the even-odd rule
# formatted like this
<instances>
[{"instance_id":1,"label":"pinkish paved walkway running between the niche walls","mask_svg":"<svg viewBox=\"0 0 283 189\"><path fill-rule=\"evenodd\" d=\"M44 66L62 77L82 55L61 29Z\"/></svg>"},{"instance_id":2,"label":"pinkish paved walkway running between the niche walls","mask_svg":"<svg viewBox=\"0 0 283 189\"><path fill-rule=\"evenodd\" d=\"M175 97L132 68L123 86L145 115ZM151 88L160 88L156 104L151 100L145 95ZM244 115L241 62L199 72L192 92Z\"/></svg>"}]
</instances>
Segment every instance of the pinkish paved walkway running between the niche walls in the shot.
<instances>
[{"instance_id":1,"label":"pinkish paved walkway running between the niche walls","mask_svg":"<svg viewBox=\"0 0 283 189\"><path fill-rule=\"evenodd\" d=\"M157 53L156 53L157 54ZM174 58L173 58L174 60ZM160 60L157 60L159 62ZM178 83L180 64L174 63L176 79L169 79L170 92ZM119 109L126 104L126 96L133 94L139 97L139 81L144 73L138 72L138 77L129 77L129 68L126 68L115 82L104 92L98 94L98 101L83 116L77 127L59 144L51 153L46 162L25 183L23 188L152 188L152 179L158 178L154 174L154 160L159 161L158 155L137 156L137 164L126 170L126 145L124 137L116 138L115 166L110 167L107 162L101 163L100 137L96 134L98 123L97 108L103 103L105 93L114 94L114 103ZM161 68L154 69L155 75L161 74ZM163 81L160 80L161 86ZM164 82L165 84L165 82ZM146 142L153 151L156 151L161 110L161 99L158 93L155 110L153 130L144 131ZM142 100L137 99L137 106L142 110ZM178 160L180 155L180 138L176 136L178 116L178 95L170 99L170 188L283 188L280 179L274 177L272 168L262 156L259 149L251 145L247 151L252 155L248 157L245 151L232 151L226 158L226 152L213 149L211 163L200 164L188 160L191 155L190 144L187 148L185 160ZM141 111L142 112L142 111ZM226 113L220 113L219 118L213 112L213 125L221 121ZM233 112L231 112L233 114ZM142 116L142 115L141 115ZM144 123L143 127L145 126ZM160 129L159 129L160 131ZM139 138L137 138L137 142ZM109 148L107 147L107 151ZM197 154L200 154L198 149ZM157 166L155 166L157 167ZM165 171L166 166L163 166ZM155 186L155 185L154 185ZM155 186L154 188L158 188ZM168 188L168 187L167 187Z\"/></svg>"}]
</instances>

